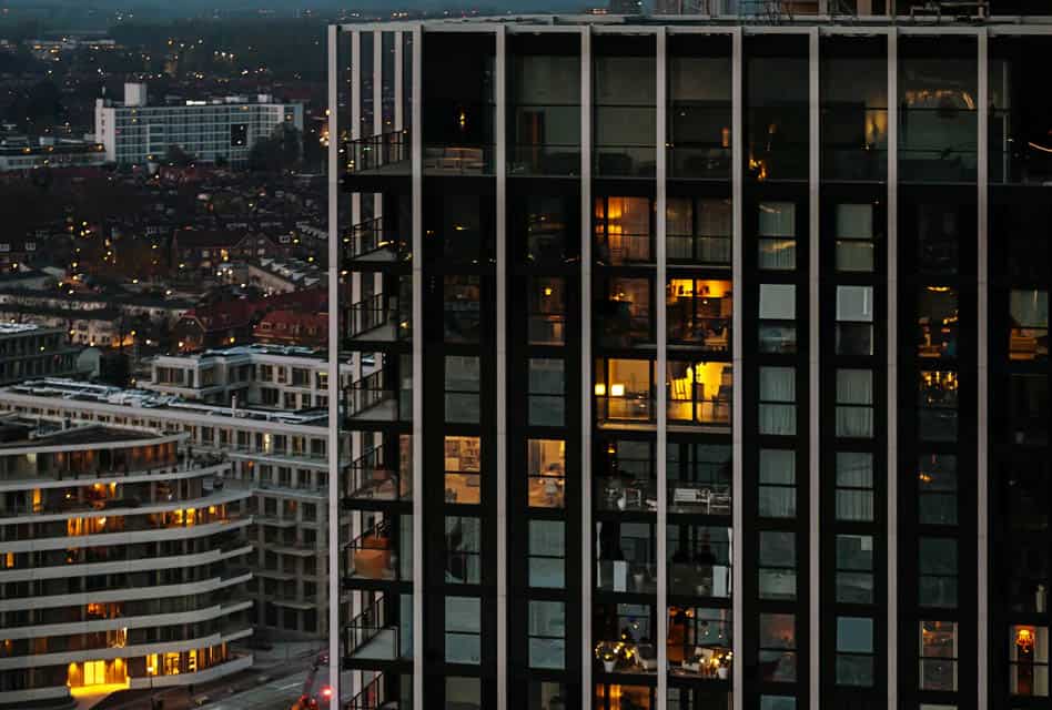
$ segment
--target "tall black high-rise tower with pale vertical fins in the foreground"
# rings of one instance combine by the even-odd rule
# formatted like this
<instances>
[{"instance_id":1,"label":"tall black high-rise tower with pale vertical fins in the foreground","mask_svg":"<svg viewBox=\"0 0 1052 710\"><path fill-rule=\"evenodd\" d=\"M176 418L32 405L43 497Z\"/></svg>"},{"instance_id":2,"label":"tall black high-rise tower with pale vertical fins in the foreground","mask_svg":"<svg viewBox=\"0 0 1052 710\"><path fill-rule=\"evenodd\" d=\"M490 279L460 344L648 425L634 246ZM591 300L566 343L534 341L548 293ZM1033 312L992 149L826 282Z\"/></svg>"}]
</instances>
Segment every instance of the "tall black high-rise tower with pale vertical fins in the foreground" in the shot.
<instances>
[{"instance_id":1,"label":"tall black high-rise tower with pale vertical fins in the foreground","mask_svg":"<svg viewBox=\"0 0 1052 710\"><path fill-rule=\"evenodd\" d=\"M997 11L331 28L351 708L1052 707L1052 23Z\"/></svg>"}]
</instances>

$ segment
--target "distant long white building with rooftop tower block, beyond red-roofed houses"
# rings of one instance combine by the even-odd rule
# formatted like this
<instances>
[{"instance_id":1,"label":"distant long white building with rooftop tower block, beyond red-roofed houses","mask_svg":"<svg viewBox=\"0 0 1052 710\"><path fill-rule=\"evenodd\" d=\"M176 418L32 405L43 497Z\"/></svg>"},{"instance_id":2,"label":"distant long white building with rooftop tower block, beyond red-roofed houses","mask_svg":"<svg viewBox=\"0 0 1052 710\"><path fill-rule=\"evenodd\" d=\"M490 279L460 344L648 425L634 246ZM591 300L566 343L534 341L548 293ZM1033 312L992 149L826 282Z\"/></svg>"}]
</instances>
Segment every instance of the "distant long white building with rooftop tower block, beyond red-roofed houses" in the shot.
<instances>
[{"instance_id":1,"label":"distant long white building with rooftop tower block, beyond red-roofed houses","mask_svg":"<svg viewBox=\"0 0 1052 710\"><path fill-rule=\"evenodd\" d=\"M95 101L95 141L107 160L143 165L162 162L172 146L205 162L244 165L256 141L287 124L303 131L303 104L269 94L151 104L146 84L124 84L124 101Z\"/></svg>"}]
</instances>

